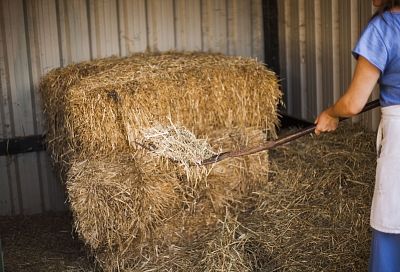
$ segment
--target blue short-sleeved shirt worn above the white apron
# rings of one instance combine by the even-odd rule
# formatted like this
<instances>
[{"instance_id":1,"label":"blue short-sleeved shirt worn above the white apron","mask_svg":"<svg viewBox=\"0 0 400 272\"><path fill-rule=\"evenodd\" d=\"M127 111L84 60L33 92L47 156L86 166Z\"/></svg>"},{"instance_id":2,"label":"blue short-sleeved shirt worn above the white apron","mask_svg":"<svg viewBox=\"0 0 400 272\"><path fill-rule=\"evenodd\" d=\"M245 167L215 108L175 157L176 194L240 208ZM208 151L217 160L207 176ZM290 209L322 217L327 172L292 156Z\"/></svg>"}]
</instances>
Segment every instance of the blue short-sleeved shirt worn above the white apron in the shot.
<instances>
[{"instance_id":1,"label":"blue short-sleeved shirt worn above the white apron","mask_svg":"<svg viewBox=\"0 0 400 272\"><path fill-rule=\"evenodd\" d=\"M400 12L384 12L373 18L353 50L380 71L382 107L400 104Z\"/></svg>"}]
</instances>

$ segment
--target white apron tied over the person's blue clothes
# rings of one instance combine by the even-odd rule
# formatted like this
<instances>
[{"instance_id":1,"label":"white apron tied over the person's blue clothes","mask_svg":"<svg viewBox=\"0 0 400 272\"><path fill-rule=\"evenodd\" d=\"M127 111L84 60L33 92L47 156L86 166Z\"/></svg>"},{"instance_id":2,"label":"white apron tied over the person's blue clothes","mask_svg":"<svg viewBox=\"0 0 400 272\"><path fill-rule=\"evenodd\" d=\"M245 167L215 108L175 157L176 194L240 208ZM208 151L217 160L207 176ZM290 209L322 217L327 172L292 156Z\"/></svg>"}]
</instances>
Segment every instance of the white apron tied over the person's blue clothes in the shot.
<instances>
[{"instance_id":1,"label":"white apron tied over the person's blue clothes","mask_svg":"<svg viewBox=\"0 0 400 272\"><path fill-rule=\"evenodd\" d=\"M381 110L371 227L381 232L400 233L400 105Z\"/></svg>"}]
</instances>

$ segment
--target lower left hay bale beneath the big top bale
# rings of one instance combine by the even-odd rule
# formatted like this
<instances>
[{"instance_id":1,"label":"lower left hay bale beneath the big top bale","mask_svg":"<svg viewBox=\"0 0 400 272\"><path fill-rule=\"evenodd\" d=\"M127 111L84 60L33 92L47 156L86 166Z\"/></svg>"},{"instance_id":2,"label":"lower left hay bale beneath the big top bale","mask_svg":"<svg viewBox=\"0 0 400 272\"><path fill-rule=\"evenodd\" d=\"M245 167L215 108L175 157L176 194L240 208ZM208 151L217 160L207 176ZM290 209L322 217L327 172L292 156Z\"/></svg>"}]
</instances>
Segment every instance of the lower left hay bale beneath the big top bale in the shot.
<instances>
[{"instance_id":1,"label":"lower left hay bale beneath the big top bale","mask_svg":"<svg viewBox=\"0 0 400 272\"><path fill-rule=\"evenodd\" d=\"M140 244L173 214L179 189L173 166L144 156L86 160L68 172L76 227L93 249Z\"/></svg>"}]
</instances>

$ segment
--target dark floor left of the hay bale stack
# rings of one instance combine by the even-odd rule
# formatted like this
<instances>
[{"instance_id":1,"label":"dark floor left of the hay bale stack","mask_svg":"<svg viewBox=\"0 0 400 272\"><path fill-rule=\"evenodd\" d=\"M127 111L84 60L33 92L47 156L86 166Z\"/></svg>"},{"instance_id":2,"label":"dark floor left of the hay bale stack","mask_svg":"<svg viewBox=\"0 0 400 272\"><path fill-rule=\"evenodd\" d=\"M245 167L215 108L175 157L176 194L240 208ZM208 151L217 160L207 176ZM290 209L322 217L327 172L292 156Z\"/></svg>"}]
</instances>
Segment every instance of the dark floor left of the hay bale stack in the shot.
<instances>
[{"instance_id":1,"label":"dark floor left of the hay bale stack","mask_svg":"<svg viewBox=\"0 0 400 272\"><path fill-rule=\"evenodd\" d=\"M94 272L68 213L0 217L6 272Z\"/></svg>"}]
</instances>

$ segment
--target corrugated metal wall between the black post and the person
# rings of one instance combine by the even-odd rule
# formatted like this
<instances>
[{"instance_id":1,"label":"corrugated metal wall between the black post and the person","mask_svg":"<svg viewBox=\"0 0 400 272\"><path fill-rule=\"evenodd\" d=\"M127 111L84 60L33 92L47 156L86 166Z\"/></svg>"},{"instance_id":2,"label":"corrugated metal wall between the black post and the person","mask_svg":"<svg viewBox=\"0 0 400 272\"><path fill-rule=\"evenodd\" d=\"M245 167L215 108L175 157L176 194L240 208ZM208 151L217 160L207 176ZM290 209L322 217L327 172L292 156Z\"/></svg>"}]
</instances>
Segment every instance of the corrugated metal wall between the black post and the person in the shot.
<instances>
[{"instance_id":1,"label":"corrugated metal wall between the black post and the person","mask_svg":"<svg viewBox=\"0 0 400 272\"><path fill-rule=\"evenodd\" d=\"M282 87L290 115L313 121L352 78L351 50L373 13L371 0L279 0ZM377 97L377 91L373 97ZM378 111L362 122L376 128Z\"/></svg>"}]
</instances>

